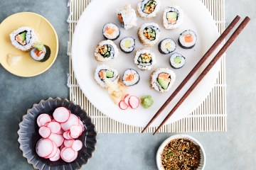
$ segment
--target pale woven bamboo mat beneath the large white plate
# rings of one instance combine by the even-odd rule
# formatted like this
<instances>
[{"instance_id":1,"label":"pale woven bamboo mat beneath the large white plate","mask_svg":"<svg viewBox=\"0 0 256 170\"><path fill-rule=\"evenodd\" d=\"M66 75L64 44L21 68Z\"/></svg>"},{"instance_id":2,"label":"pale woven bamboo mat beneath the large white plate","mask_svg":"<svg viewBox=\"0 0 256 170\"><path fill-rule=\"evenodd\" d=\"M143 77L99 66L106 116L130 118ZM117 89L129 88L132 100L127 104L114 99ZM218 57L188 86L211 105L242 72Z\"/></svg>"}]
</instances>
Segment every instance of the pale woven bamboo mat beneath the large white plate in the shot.
<instances>
[{"instance_id":1,"label":"pale woven bamboo mat beneath the large white plate","mask_svg":"<svg viewBox=\"0 0 256 170\"><path fill-rule=\"evenodd\" d=\"M189 1L189 0L188 0ZM225 0L201 0L208 8L213 16L216 26L220 33L225 30ZM70 0L68 6L70 8L70 16L68 17L70 32L70 41L68 42L68 55L70 57L70 72L68 75L68 86L70 87L70 101L82 106L95 123L97 132L99 133L134 133L142 132L142 128L133 127L118 123L111 118L107 118L100 113L90 101L82 94L81 89L75 79L72 68L72 60L70 49L72 37L76 23L82 11L90 4L90 0ZM221 60L221 69L215 86L210 91L208 97L201 103L195 111L186 118L178 120L171 125L164 125L159 132L212 132L227 130L227 114L226 114L226 81L225 81L225 55ZM155 128L148 128L146 132L154 132Z\"/></svg>"}]
</instances>

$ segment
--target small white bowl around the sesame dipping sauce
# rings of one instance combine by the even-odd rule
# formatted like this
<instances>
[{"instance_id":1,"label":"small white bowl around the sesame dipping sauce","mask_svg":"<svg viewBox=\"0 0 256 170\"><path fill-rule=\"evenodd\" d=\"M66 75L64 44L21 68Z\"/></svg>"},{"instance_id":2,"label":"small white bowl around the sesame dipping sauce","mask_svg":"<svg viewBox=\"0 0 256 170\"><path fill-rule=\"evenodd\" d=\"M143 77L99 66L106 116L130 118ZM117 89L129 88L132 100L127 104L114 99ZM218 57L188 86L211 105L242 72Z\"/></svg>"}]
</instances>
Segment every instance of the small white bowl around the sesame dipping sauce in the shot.
<instances>
[{"instance_id":1,"label":"small white bowl around the sesame dipping sauce","mask_svg":"<svg viewBox=\"0 0 256 170\"><path fill-rule=\"evenodd\" d=\"M157 168L159 170L164 170L163 166L161 165L161 152L163 152L164 147L171 141L171 140L176 140L176 139L187 139L190 140L191 142L193 142L194 144L198 145L200 147L200 154L201 154L201 162L200 162L200 166L198 166L198 170L203 170L206 166L206 152L203 149L203 146L201 145L200 142L198 142L198 140L196 140L195 138L189 136L189 135L173 135L171 137L169 137L167 140L165 140L161 146L159 147L158 151L156 152L156 164L157 164Z\"/></svg>"}]
</instances>

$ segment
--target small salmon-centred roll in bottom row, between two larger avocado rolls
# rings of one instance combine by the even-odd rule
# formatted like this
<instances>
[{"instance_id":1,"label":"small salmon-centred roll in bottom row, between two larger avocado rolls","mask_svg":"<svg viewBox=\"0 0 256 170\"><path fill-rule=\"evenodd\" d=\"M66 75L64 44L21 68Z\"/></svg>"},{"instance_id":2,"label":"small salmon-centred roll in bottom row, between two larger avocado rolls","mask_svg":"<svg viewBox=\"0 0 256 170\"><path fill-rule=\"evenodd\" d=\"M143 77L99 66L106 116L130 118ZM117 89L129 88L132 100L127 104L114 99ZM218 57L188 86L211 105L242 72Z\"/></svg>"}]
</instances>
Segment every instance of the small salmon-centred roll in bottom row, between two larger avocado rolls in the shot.
<instances>
[{"instance_id":1,"label":"small salmon-centred roll in bottom row, between two larger avocado rolls","mask_svg":"<svg viewBox=\"0 0 256 170\"><path fill-rule=\"evenodd\" d=\"M133 86L139 83L139 74L135 69L127 69L124 71L122 81L125 86Z\"/></svg>"}]
</instances>

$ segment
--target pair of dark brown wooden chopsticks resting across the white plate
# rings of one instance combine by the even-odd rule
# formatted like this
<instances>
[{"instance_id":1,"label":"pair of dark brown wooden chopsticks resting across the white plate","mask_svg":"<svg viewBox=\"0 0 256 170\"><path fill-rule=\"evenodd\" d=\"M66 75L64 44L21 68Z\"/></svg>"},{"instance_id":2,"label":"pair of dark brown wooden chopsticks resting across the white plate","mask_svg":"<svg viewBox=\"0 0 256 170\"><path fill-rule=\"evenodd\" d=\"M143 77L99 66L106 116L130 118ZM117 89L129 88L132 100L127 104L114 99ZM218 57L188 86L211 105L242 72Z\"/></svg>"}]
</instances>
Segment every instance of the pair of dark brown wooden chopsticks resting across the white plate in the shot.
<instances>
[{"instance_id":1,"label":"pair of dark brown wooden chopsticks resting across the white plate","mask_svg":"<svg viewBox=\"0 0 256 170\"><path fill-rule=\"evenodd\" d=\"M156 120L156 118L161 114L162 111L164 111L164 108L166 108L166 106L172 101L172 99L178 94L179 91L181 91L181 89L183 88L183 86L186 85L186 83L189 81L189 79L191 79L191 77L193 77L193 75L198 71L198 69L202 66L202 64L204 62L206 62L206 60L208 59L208 57L210 57L210 55L213 54L214 50L216 50L216 48L221 44L221 42L223 42L223 40L228 36L228 34L230 33L230 31L237 25L237 23L240 21L240 16L236 16L235 19L232 21L232 23L230 23L230 25L228 26L228 28L223 32L222 35L220 35L220 37L218 38L218 40L216 40L214 42L214 44L210 47L210 49L206 52L205 55L203 55L203 57L201 58L201 60L196 64L196 66L191 70L191 72L188 74L188 76L181 82L181 84L177 87L177 89L174 91L173 94L171 94L171 96L167 99L167 101L164 103L163 106L161 106L161 108L159 108L159 111L156 112L156 114L154 115L153 118L151 118L151 120L149 121L149 123L146 125L146 127L144 128L144 130L142 130L142 132L144 132L146 130L146 128L149 127L149 125L151 125L151 123L154 122L154 120ZM164 125L164 123L166 123L166 121L171 117L171 115L173 115L173 113L177 110L177 108L179 106L181 106L181 103L183 103L183 101L185 101L185 99L191 94L191 92L193 91L193 89L196 88L196 86L199 84L199 82L203 79L203 77L206 76L206 74L210 71L210 69L212 69L212 67L215 65L216 62L218 62L218 60L220 59L220 57L225 53L225 51L228 49L228 47L230 47L230 45L233 43L233 41L235 40L235 38L238 37L238 35L242 32L242 30L245 28L245 26L247 26L247 23L250 21L249 17L245 17L245 19L242 21L242 23L240 23L240 26L238 26L238 28L235 30L235 32L230 36L230 38L228 39L228 41L225 43L225 45L223 45L223 47L220 49L220 51L218 52L217 55L215 55L215 57L213 58L213 60L208 64L208 66L206 67L206 69L203 70L203 72L200 74L200 76L198 77L198 79L196 79L196 81L192 84L192 86L188 89L188 91L186 91L186 94L184 94L182 96L182 98L178 101L178 103L176 104L176 106L174 106L174 108L171 110L171 112L166 116L166 118L163 120L163 122L159 125L159 127L156 129L156 131L154 132L153 135L156 134L156 132Z\"/></svg>"}]
</instances>

